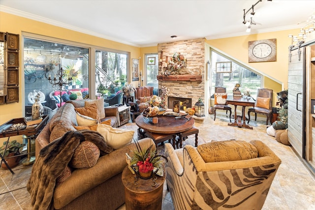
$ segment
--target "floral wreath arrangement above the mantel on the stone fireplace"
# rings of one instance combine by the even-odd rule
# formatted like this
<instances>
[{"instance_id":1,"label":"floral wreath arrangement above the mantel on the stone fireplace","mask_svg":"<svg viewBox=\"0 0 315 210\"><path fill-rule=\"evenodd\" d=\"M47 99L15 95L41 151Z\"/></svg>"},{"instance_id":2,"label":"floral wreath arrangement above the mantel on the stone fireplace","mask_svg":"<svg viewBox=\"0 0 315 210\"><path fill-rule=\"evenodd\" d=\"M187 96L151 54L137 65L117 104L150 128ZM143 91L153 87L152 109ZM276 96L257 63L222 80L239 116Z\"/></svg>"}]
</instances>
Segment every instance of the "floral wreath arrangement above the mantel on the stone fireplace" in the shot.
<instances>
[{"instance_id":1,"label":"floral wreath arrangement above the mantel on the stone fireplace","mask_svg":"<svg viewBox=\"0 0 315 210\"><path fill-rule=\"evenodd\" d=\"M171 74L182 74L182 70L184 70L187 66L187 59L181 53L175 52L171 58L171 60L167 61L167 67L165 72L162 70L162 74L171 75Z\"/></svg>"}]
</instances>

